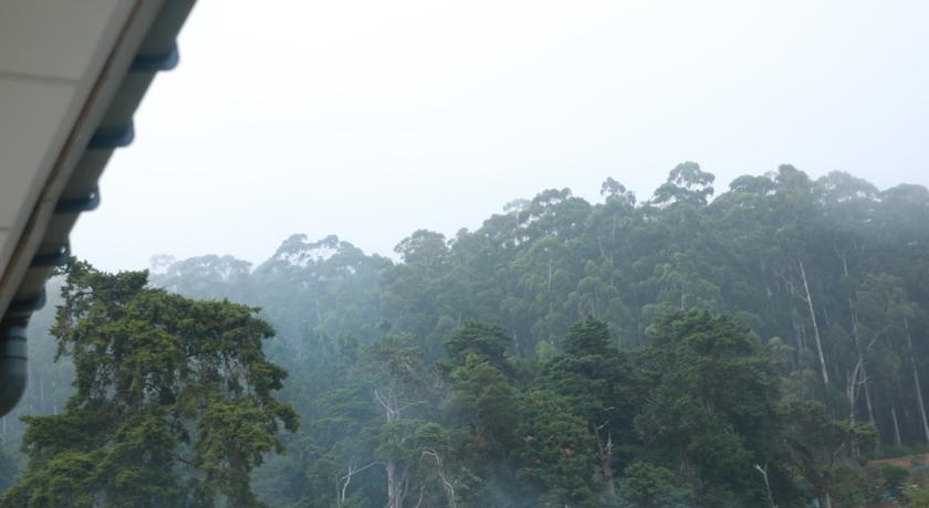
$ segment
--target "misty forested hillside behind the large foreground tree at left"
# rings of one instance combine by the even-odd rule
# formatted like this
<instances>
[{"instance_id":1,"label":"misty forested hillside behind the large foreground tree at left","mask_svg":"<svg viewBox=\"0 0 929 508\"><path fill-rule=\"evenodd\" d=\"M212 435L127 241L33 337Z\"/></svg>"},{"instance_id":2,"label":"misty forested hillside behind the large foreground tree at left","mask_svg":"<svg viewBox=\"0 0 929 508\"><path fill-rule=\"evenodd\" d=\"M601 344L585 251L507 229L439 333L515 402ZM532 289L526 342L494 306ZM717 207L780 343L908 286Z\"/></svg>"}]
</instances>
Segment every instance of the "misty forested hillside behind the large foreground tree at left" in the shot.
<instances>
[{"instance_id":1,"label":"misty forested hillside behind the large foreground tree at left","mask_svg":"<svg viewBox=\"0 0 929 508\"><path fill-rule=\"evenodd\" d=\"M252 476L270 506L918 496L863 464L929 445L929 191L791 166L714 183L685 162L646 200L546 190L396 260L294 235L257 267L160 256L150 281L276 329L301 425ZM61 411L71 375L33 370L24 408Z\"/></svg>"}]
</instances>

